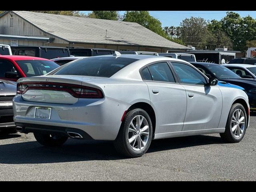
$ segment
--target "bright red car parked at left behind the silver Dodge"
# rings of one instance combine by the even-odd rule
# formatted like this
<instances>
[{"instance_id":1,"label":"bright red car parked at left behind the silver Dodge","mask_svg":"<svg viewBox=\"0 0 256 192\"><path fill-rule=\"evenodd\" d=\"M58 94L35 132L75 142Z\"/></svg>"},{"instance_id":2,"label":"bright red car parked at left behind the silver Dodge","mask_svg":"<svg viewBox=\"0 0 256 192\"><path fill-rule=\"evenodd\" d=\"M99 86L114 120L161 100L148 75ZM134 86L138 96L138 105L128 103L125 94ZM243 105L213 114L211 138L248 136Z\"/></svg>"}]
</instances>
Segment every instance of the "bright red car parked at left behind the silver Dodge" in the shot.
<instances>
[{"instance_id":1,"label":"bright red car parked at left behind the silver Dodge","mask_svg":"<svg viewBox=\"0 0 256 192\"><path fill-rule=\"evenodd\" d=\"M22 77L41 76L58 67L60 65L44 58L0 55L0 79L16 81Z\"/></svg>"}]
</instances>

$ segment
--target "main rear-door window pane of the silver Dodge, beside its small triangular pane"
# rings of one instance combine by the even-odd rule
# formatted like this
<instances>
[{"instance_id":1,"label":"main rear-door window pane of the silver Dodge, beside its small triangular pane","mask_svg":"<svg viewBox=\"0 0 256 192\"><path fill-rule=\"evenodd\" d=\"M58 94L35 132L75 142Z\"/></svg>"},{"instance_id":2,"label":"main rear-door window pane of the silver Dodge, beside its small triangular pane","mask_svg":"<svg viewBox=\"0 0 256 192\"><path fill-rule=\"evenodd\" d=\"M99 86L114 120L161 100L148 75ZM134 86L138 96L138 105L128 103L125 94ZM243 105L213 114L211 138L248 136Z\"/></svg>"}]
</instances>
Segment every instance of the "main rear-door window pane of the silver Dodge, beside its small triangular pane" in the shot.
<instances>
[{"instance_id":1,"label":"main rear-door window pane of the silver Dodge, beside its small triangular pane","mask_svg":"<svg viewBox=\"0 0 256 192\"><path fill-rule=\"evenodd\" d=\"M148 66L153 81L175 82L172 72L166 62Z\"/></svg>"}]
</instances>

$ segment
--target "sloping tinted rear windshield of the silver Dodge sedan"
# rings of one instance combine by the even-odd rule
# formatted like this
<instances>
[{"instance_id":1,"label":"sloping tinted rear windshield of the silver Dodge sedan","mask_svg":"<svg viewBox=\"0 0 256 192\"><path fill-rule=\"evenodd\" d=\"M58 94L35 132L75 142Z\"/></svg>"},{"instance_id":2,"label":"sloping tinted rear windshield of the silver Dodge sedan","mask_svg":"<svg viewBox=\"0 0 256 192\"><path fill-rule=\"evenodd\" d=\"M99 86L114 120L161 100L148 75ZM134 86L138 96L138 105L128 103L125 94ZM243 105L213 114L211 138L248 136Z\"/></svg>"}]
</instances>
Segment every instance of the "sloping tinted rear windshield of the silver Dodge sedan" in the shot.
<instances>
[{"instance_id":1,"label":"sloping tinted rear windshield of the silver Dodge sedan","mask_svg":"<svg viewBox=\"0 0 256 192\"><path fill-rule=\"evenodd\" d=\"M110 77L125 66L137 61L132 58L90 57L76 60L58 70L55 75Z\"/></svg>"}]
</instances>

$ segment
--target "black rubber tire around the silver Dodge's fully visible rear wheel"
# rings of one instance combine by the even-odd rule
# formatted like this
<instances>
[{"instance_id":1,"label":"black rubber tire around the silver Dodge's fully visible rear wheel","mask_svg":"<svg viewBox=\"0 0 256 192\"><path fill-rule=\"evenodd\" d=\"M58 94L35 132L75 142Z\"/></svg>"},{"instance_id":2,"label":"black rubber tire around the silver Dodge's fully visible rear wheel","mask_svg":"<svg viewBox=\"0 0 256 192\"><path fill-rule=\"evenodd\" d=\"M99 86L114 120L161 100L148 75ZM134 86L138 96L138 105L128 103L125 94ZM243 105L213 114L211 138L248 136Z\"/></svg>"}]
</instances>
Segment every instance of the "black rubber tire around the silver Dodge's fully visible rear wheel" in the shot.
<instances>
[{"instance_id":1,"label":"black rubber tire around the silver Dodge's fully visible rear wheel","mask_svg":"<svg viewBox=\"0 0 256 192\"><path fill-rule=\"evenodd\" d=\"M139 151L136 151L129 144L128 129L129 129L130 123L132 122L134 117L136 117L138 115L143 116L147 120L149 134L148 134L148 141L147 141L146 145L144 146L144 148L142 148ZM126 115L124 116L123 122L122 122L120 130L118 132L118 136L116 137L116 140L114 141L114 146L115 146L116 150L124 156L140 157L144 153L146 153L146 151L148 150L148 148L150 146L150 143L152 140L152 131L153 131L152 122L151 122L151 119L150 119L150 116L148 115L148 113L146 111L144 111L143 109L139 109L139 108L133 109L133 110L129 111L128 113L126 113Z\"/></svg>"}]
</instances>

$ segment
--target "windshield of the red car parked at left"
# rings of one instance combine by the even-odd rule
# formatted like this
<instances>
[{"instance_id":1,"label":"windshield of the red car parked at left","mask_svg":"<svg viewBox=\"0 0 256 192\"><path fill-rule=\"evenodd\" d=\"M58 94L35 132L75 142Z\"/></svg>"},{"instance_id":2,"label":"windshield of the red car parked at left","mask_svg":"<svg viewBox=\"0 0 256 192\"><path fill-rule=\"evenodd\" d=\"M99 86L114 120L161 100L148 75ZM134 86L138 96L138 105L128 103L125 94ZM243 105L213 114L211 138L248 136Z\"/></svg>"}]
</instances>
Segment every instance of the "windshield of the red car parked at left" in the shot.
<instances>
[{"instance_id":1,"label":"windshield of the red car parked at left","mask_svg":"<svg viewBox=\"0 0 256 192\"><path fill-rule=\"evenodd\" d=\"M15 62L27 77L45 75L60 66L53 61L44 60L19 60Z\"/></svg>"}]
</instances>

